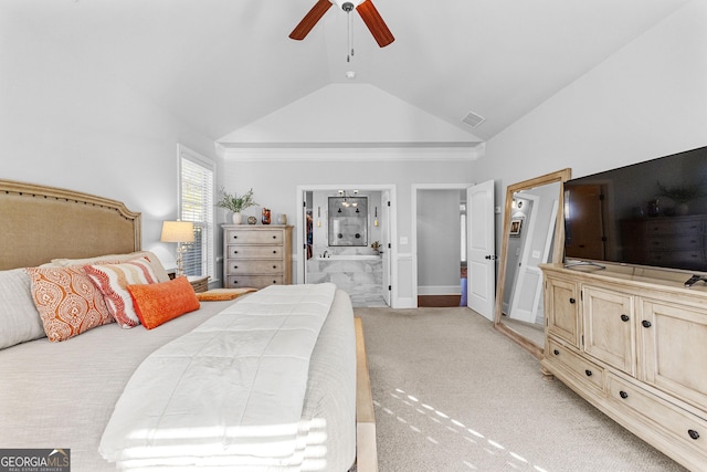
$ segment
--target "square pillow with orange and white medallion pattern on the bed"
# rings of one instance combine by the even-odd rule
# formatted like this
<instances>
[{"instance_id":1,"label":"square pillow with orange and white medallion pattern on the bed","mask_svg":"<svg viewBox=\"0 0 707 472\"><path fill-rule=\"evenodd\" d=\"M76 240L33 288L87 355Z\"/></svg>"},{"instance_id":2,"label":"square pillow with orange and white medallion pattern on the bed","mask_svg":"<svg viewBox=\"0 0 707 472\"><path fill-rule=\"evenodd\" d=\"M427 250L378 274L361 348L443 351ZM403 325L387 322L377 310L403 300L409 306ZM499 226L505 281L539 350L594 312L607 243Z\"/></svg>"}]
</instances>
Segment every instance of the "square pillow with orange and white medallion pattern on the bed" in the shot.
<instances>
[{"instance_id":1,"label":"square pillow with orange and white medallion pattern on the bed","mask_svg":"<svg viewBox=\"0 0 707 472\"><path fill-rule=\"evenodd\" d=\"M83 268L28 268L27 272L49 340L65 340L115 321Z\"/></svg>"}]
</instances>

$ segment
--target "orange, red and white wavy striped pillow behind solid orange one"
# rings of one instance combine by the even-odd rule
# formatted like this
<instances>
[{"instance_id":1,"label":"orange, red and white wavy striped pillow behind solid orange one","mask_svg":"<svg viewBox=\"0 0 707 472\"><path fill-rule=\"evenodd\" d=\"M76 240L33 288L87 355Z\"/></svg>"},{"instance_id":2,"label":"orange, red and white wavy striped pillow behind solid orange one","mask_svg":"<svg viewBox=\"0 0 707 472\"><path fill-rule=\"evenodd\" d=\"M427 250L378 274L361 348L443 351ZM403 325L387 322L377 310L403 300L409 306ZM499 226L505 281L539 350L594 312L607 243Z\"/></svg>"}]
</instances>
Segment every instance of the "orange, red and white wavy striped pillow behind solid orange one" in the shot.
<instances>
[{"instance_id":1,"label":"orange, red and white wavy striped pillow behind solid orange one","mask_svg":"<svg viewBox=\"0 0 707 472\"><path fill-rule=\"evenodd\" d=\"M131 328L140 324L127 286L157 282L147 258L119 264L85 265L84 270L103 294L108 312L122 327Z\"/></svg>"}]
</instances>

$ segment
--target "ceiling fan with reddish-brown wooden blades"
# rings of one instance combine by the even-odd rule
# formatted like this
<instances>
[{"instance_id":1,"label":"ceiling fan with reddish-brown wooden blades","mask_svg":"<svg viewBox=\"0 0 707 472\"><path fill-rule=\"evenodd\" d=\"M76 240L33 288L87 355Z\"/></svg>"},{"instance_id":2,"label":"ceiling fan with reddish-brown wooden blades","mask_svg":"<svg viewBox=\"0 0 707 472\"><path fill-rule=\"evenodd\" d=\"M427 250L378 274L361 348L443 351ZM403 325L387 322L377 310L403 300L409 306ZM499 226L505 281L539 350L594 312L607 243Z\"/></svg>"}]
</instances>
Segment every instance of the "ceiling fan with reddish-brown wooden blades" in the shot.
<instances>
[{"instance_id":1,"label":"ceiling fan with reddish-brown wooden blades","mask_svg":"<svg viewBox=\"0 0 707 472\"><path fill-rule=\"evenodd\" d=\"M395 41L395 38L393 38L371 0L317 0L317 3L315 3L299 24L289 33L289 38L298 41L304 40L333 3L336 3L347 13L350 13L350 11L356 8L356 11L361 15L363 23L366 23L379 46L386 48Z\"/></svg>"}]
</instances>

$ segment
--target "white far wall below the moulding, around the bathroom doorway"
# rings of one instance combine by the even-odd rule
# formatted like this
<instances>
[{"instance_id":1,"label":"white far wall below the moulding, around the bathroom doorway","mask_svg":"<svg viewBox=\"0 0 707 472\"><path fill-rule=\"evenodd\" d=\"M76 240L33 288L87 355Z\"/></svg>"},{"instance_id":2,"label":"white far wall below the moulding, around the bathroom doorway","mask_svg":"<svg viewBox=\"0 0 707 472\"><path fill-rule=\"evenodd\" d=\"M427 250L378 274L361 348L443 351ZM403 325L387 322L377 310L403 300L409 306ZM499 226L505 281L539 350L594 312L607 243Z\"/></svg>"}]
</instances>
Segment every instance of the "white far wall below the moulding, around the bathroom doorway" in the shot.
<instances>
[{"instance_id":1,"label":"white far wall below the moulding, around the bathroom doorway","mask_svg":"<svg viewBox=\"0 0 707 472\"><path fill-rule=\"evenodd\" d=\"M275 213L294 217L300 211L297 187L310 185L329 188L357 186L394 186L397 214L397 254L393 293L403 306L412 303L413 258L412 185L471 182L469 149L462 148L329 148L329 149L228 149L223 182L229 190L242 192L253 188L255 201ZM370 189L370 187L369 187ZM252 209L254 212L260 209ZM219 214L220 219L225 218ZM289 218L294 223L294 218ZM300 229L295 228L295 233ZM401 238L408 243L401 243Z\"/></svg>"}]
</instances>

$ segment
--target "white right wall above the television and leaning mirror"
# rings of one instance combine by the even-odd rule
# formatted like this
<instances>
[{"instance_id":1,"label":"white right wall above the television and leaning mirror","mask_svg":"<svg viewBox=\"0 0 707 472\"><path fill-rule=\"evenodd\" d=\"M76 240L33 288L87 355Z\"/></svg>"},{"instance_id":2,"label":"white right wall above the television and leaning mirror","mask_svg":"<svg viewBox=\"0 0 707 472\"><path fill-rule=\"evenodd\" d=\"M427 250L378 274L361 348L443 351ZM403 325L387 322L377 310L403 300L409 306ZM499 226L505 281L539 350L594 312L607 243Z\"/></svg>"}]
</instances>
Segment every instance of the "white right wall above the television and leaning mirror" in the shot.
<instances>
[{"instance_id":1,"label":"white right wall above the television and leaning mirror","mask_svg":"<svg viewBox=\"0 0 707 472\"><path fill-rule=\"evenodd\" d=\"M474 179L495 179L503 206L508 185L542 174L580 177L707 145L705 24L707 2L695 0L646 31L488 140Z\"/></svg>"}]
</instances>

